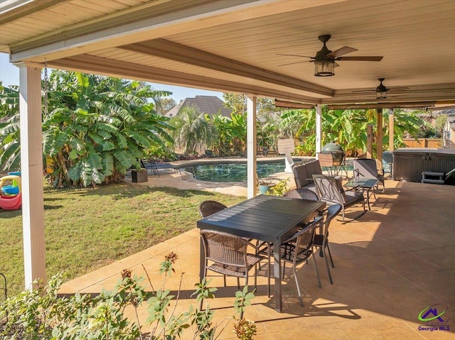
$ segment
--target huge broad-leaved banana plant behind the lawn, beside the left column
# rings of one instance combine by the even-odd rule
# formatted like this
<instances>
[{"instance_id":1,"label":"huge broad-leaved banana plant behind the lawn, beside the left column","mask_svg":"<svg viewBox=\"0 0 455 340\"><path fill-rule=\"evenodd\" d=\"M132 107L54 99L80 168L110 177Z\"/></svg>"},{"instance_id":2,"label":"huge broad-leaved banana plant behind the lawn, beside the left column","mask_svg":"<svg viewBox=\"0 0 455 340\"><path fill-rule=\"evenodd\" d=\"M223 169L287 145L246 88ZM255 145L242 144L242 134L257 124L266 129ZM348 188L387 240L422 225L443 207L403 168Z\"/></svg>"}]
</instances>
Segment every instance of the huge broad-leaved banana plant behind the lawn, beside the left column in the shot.
<instances>
[{"instance_id":1,"label":"huge broad-leaved banana plant behind the lawn, beside the left column","mask_svg":"<svg viewBox=\"0 0 455 340\"><path fill-rule=\"evenodd\" d=\"M43 153L53 165L55 186L84 186L119 180L146 148L172 141L168 119L154 101L168 92L142 82L55 70L48 84L49 111L43 113ZM1 129L0 163L16 168L20 159L18 115Z\"/></svg>"}]
</instances>

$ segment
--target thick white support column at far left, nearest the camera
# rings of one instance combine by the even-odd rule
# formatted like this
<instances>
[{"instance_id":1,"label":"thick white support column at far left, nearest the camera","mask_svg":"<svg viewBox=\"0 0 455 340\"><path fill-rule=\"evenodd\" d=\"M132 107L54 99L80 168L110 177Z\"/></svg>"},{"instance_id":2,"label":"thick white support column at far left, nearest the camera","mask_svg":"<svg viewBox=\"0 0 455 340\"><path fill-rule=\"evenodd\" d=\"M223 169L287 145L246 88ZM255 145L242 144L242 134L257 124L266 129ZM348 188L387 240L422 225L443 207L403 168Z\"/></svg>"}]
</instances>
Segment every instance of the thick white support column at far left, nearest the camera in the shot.
<instances>
[{"instance_id":1,"label":"thick white support column at far left, nearest the camera","mask_svg":"<svg viewBox=\"0 0 455 340\"><path fill-rule=\"evenodd\" d=\"M43 138L41 67L18 64L21 112L23 261L26 289L40 278L45 285Z\"/></svg>"}]
</instances>

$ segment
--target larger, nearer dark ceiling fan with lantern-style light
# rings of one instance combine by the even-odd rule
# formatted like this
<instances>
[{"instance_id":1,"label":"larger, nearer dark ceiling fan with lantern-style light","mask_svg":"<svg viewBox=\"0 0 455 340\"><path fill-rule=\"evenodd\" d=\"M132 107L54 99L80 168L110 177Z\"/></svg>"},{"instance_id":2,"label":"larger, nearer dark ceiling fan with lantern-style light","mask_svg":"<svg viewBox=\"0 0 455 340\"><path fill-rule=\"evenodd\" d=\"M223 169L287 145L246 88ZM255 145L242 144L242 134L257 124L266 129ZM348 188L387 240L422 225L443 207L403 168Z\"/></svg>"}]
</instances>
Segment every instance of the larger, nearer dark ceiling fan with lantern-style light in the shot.
<instances>
[{"instance_id":1,"label":"larger, nearer dark ceiling fan with lantern-style light","mask_svg":"<svg viewBox=\"0 0 455 340\"><path fill-rule=\"evenodd\" d=\"M278 55L289 55L291 57L307 57L311 60L307 60L308 62L314 62L314 75L317 77L328 77L331 75L335 75L333 72L333 68L340 66L336 63L336 61L342 60L355 60L355 61L381 61L382 57L380 56L372 56L372 57L343 57L351 52L355 52L356 48L350 48L348 46L343 46L342 48L338 48L338 50L331 51L327 48L326 43L331 38L330 34L319 35L319 40L324 44L321 50L316 53L314 57L308 57L306 55L289 55L289 54L278 54ZM306 62L306 61L301 61ZM299 62L289 62L288 64L282 64L279 66L284 65L291 65L297 64Z\"/></svg>"}]
</instances>

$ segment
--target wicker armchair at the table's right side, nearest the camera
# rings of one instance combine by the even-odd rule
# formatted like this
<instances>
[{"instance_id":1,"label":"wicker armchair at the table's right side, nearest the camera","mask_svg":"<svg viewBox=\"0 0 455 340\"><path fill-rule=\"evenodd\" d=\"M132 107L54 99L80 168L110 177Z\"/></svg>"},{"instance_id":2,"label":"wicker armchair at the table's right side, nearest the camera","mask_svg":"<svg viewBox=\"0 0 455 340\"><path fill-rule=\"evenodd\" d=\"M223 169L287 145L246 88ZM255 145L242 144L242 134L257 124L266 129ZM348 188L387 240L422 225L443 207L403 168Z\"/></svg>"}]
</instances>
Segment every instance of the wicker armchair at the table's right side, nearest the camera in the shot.
<instances>
[{"instance_id":1,"label":"wicker armchair at the table's right side, nearest the camera","mask_svg":"<svg viewBox=\"0 0 455 340\"><path fill-rule=\"evenodd\" d=\"M308 263L310 258L313 258L314 271L316 278L318 279L319 288L321 288L321 278L319 278L318 265L316 264L316 258L314 257L314 232L317 227L322 226L323 216L318 216L313 221L309 222L300 229L294 236L284 241L279 249L279 257L283 263L283 277L286 263L292 263L292 272L294 273L294 279L296 280L297 292L299 294L299 302L303 307L304 302L301 298L299 279L297 278L297 265L300 263ZM267 248L268 256L273 256L274 245L271 244Z\"/></svg>"}]
</instances>

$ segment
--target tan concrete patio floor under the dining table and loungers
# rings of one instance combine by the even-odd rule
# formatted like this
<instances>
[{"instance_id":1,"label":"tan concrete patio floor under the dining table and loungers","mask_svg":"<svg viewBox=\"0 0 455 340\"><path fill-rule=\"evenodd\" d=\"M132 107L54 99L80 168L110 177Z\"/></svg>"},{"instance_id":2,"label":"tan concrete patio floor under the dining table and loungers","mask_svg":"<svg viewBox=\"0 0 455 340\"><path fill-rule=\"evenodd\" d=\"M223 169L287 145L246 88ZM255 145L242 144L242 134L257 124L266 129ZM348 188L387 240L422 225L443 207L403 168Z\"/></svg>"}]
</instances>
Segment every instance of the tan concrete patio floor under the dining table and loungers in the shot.
<instances>
[{"instance_id":1,"label":"tan concrete patio floor under the dining table and loungers","mask_svg":"<svg viewBox=\"0 0 455 340\"><path fill-rule=\"evenodd\" d=\"M159 185L187 188L180 175L166 176L161 175ZM150 180L156 176L150 177L147 185L153 185ZM455 339L455 187L387 180L385 193L371 201L371 211L358 221L331 224L333 285L323 258L316 256L321 289L311 263L299 268L304 307L299 305L288 270L282 281L283 312L276 312L274 298L267 297L265 268L259 271L256 297L245 311L245 317L257 325L254 339ZM346 216L355 216L360 209L349 208ZM176 275L166 279L166 288L176 294L183 275L176 307L182 312L191 304L196 306L191 294L199 281L199 244L195 225L180 236L71 280L60 292L112 289L124 268L142 276L145 268L154 287L161 287L159 263L173 251L179 257ZM228 278L228 287L223 287L222 277L213 277L211 285L218 287L209 303L219 323L234 312L237 284L235 278ZM419 313L432 305L437 305L439 314L447 308L441 319L450 331L419 330L427 327L419 322ZM142 324L146 314L145 307L139 309ZM233 335L230 322L218 339L235 339Z\"/></svg>"}]
</instances>

